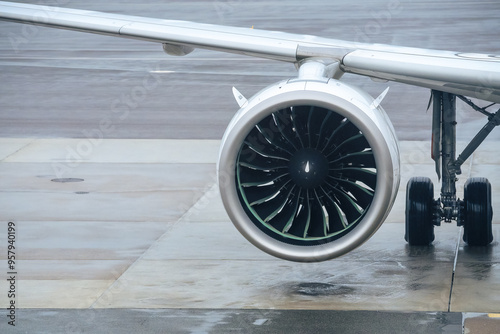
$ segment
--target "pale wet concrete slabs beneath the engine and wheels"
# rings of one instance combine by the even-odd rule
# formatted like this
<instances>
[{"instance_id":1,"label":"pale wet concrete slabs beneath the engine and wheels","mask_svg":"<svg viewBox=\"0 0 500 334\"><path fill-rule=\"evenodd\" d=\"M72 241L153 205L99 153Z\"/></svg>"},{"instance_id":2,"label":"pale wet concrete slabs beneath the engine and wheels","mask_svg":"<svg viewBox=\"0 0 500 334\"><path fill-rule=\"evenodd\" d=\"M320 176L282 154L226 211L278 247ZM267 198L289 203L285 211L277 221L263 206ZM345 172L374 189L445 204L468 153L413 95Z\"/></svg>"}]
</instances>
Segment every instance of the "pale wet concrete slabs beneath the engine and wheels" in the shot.
<instances>
[{"instance_id":1,"label":"pale wet concrete slabs beneath the engine and wheels","mask_svg":"<svg viewBox=\"0 0 500 334\"><path fill-rule=\"evenodd\" d=\"M421 160L427 143L402 142L400 194L372 239L342 258L297 264L232 226L215 185L218 141L102 140L68 160L82 140L0 140L0 261L14 222L21 309L499 311L498 216L486 248L465 246L451 224L430 247L403 239L405 180L432 169ZM494 194L496 147L484 145L464 170L489 177ZM68 169L57 175L60 165ZM2 294L0 306L9 302Z\"/></svg>"}]
</instances>

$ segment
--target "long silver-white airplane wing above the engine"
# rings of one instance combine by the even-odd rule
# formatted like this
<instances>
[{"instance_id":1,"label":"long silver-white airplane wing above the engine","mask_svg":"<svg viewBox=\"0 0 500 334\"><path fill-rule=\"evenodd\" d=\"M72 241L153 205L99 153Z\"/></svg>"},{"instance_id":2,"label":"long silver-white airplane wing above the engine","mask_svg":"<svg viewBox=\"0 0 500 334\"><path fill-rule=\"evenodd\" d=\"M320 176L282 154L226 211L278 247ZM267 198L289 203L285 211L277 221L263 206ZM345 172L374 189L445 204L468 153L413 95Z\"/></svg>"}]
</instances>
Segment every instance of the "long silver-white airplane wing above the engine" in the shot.
<instances>
[{"instance_id":1,"label":"long silver-white airplane wing above the engine","mask_svg":"<svg viewBox=\"0 0 500 334\"><path fill-rule=\"evenodd\" d=\"M499 55L365 44L1 1L0 19L162 43L171 55L203 48L292 63L333 59L340 62L343 72L500 102Z\"/></svg>"}]
</instances>

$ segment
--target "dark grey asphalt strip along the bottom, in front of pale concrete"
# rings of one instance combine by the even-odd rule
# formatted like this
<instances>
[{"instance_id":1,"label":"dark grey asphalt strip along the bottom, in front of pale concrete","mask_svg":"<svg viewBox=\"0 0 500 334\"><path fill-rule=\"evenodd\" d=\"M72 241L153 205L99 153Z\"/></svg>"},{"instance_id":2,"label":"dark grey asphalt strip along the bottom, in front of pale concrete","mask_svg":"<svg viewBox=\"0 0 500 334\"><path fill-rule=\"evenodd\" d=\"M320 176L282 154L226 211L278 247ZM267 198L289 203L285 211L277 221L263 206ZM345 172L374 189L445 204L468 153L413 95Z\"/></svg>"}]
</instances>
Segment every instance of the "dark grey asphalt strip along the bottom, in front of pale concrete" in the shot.
<instances>
[{"instance_id":1,"label":"dark grey asphalt strip along the bottom, in front of pale concrete","mask_svg":"<svg viewBox=\"0 0 500 334\"><path fill-rule=\"evenodd\" d=\"M0 327L1 328L1 327ZM19 311L18 333L411 333L455 334L460 313L308 310Z\"/></svg>"}]
</instances>

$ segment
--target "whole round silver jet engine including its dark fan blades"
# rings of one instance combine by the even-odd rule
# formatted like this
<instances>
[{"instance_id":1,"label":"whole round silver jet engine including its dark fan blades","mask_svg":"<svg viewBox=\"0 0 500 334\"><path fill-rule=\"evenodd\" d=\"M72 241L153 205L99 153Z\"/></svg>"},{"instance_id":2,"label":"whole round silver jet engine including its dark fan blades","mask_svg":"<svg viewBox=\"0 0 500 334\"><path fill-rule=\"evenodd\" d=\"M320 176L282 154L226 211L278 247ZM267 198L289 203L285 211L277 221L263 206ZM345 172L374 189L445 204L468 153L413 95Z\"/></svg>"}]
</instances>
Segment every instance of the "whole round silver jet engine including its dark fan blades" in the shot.
<instances>
[{"instance_id":1,"label":"whole round silver jet engine including its dark fan blades","mask_svg":"<svg viewBox=\"0 0 500 334\"><path fill-rule=\"evenodd\" d=\"M236 228L261 250L299 262L369 239L400 180L386 113L334 79L286 80L256 94L230 122L217 169Z\"/></svg>"}]
</instances>

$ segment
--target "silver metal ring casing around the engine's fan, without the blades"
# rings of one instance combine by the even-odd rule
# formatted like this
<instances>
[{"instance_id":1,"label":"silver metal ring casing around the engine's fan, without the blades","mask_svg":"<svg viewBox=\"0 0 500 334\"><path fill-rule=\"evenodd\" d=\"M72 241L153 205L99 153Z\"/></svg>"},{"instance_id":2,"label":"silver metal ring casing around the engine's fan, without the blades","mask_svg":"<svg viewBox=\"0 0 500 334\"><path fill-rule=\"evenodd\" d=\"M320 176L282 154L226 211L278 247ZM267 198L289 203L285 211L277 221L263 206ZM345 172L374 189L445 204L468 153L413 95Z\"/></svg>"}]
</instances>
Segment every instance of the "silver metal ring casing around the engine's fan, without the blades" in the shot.
<instances>
[{"instance_id":1,"label":"silver metal ring casing around the engine's fan, without the blades","mask_svg":"<svg viewBox=\"0 0 500 334\"><path fill-rule=\"evenodd\" d=\"M351 98L346 99L346 95ZM375 117L370 114L374 112L370 107L371 102L358 90L343 83L282 82L257 94L235 115L223 138L218 179L224 207L245 238L273 256L298 262L315 262L341 256L361 245L376 232L395 198L395 189L399 185L399 158L395 158L397 142L391 132L392 127L387 123L385 114ZM254 224L245 206L241 204L236 163L242 143L265 117L292 105L313 105L334 110L363 133L374 153L377 187L373 201L355 228L331 242L327 240L315 245L296 245L276 240Z\"/></svg>"}]
</instances>

